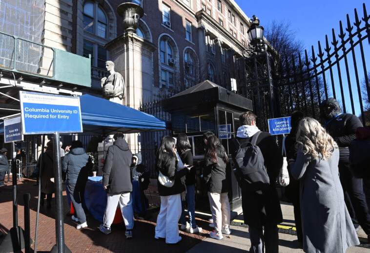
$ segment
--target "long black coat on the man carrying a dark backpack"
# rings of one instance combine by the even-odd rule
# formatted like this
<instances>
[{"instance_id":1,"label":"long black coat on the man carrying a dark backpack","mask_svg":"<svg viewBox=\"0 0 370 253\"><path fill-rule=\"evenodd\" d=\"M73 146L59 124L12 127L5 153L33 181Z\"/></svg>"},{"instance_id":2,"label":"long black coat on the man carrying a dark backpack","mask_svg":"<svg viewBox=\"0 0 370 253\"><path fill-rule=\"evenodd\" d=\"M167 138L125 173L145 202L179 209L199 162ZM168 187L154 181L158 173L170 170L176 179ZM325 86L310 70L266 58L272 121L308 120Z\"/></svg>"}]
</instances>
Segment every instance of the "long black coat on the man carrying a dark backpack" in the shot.
<instances>
[{"instance_id":1,"label":"long black coat on the man carrying a dark backpack","mask_svg":"<svg viewBox=\"0 0 370 253\"><path fill-rule=\"evenodd\" d=\"M240 144L248 142L250 138L236 137ZM253 138L253 136L252 136ZM274 137L268 132L261 132L256 145L261 149L265 159L267 174L270 179L270 187L266 190L246 192L242 190L242 208L244 223L254 226L273 226L283 222L283 214L280 207L279 196L275 188L276 177L283 165L281 150L277 146ZM235 160L234 146L231 154Z\"/></svg>"}]
</instances>

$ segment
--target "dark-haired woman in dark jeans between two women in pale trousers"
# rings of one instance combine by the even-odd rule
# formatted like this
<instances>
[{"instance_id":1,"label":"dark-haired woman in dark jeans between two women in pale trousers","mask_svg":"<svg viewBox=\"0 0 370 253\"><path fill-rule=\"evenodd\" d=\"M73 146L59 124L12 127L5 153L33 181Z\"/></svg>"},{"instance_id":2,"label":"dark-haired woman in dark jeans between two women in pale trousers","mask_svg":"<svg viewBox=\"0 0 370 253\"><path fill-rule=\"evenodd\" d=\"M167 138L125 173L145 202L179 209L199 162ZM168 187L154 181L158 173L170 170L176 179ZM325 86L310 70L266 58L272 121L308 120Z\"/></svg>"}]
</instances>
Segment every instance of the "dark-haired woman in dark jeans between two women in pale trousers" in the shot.
<instances>
[{"instance_id":1,"label":"dark-haired woman in dark jeans between two women in pale trousers","mask_svg":"<svg viewBox=\"0 0 370 253\"><path fill-rule=\"evenodd\" d=\"M180 155L183 164L187 164L188 167L193 166L193 152L190 149L189 139L185 133L180 133L177 136L176 149ZM181 213L181 229L189 229L190 233L198 233L202 231L195 222L195 168L192 167L189 173L185 177L186 186L186 201L181 201L182 213ZM185 202L187 202L187 211L189 222L185 218Z\"/></svg>"}]
</instances>

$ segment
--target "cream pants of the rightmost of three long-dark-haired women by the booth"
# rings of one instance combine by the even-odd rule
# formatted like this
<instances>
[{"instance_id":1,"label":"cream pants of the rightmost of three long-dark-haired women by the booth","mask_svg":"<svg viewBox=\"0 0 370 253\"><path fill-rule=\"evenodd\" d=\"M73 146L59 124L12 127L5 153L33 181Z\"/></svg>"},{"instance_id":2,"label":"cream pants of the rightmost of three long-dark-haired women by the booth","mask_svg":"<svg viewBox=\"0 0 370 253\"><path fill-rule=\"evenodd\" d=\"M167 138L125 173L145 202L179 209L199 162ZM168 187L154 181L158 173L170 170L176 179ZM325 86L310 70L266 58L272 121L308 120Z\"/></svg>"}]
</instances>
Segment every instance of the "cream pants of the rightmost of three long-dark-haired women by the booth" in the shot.
<instances>
[{"instance_id":1,"label":"cream pants of the rightmost of three long-dark-haired women by the booth","mask_svg":"<svg viewBox=\"0 0 370 253\"><path fill-rule=\"evenodd\" d=\"M230 226L230 203L228 202L227 192L214 193L208 191L208 198L215 232L221 233L223 227L228 228Z\"/></svg>"}]
</instances>

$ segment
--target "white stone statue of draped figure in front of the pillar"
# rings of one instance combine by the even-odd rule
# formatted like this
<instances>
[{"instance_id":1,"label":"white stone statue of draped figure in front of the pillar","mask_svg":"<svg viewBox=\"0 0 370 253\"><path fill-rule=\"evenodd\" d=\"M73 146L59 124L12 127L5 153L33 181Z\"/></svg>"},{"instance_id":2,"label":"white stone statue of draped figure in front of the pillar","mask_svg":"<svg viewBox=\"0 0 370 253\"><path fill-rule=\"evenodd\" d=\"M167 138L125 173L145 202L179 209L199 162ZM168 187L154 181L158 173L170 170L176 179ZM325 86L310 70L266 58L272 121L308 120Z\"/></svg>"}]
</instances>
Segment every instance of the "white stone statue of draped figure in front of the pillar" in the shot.
<instances>
[{"instance_id":1,"label":"white stone statue of draped figure in front of the pillar","mask_svg":"<svg viewBox=\"0 0 370 253\"><path fill-rule=\"evenodd\" d=\"M123 105L124 98L124 81L120 73L114 71L114 63L111 61L105 62L106 70L109 71L108 77L103 77L101 86L103 89L103 98L111 102Z\"/></svg>"}]
</instances>

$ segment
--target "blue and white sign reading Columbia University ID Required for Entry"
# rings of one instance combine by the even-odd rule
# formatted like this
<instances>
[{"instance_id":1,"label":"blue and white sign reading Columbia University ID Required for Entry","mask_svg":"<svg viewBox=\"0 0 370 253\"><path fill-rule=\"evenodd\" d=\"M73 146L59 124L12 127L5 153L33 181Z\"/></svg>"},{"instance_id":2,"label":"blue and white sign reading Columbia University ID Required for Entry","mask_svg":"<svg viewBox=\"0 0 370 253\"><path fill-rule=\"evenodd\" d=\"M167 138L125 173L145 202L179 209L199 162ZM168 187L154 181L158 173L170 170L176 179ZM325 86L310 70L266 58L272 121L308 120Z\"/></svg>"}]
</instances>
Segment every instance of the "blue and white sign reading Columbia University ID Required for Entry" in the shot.
<instances>
[{"instance_id":1,"label":"blue and white sign reading Columbia University ID Required for Entry","mask_svg":"<svg viewBox=\"0 0 370 253\"><path fill-rule=\"evenodd\" d=\"M82 132L80 98L20 91L23 134Z\"/></svg>"}]
</instances>

